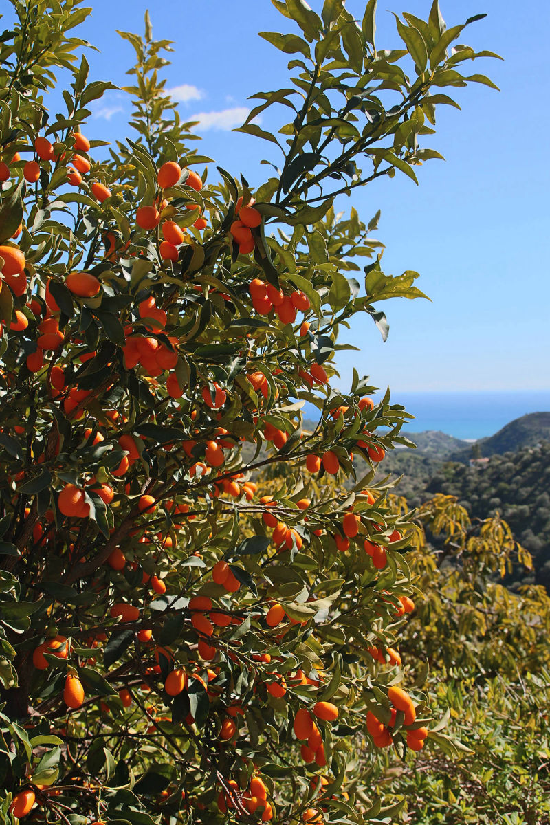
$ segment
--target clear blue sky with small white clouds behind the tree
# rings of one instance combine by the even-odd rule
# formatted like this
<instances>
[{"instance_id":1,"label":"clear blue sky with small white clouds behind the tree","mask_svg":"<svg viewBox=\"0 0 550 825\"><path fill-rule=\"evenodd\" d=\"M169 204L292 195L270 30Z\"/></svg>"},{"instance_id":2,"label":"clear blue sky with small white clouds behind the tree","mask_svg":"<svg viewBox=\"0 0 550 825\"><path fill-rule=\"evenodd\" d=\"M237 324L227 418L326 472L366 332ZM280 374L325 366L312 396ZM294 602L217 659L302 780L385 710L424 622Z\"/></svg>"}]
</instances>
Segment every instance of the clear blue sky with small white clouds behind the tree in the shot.
<instances>
[{"instance_id":1,"label":"clear blue sky with small white clouds behind the tree","mask_svg":"<svg viewBox=\"0 0 550 825\"><path fill-rule=\"evenodd\" d=\"M321 0L310 0L319 11ZM378 386L393 389L548 389L550 287L548 259L548 4L521 7L511 0L441 0L448 25L487 12L460 40L505 61L467 64L486 73L501 92L472 84L454 89L463 111L440 107L438 134L425 139L446 163L418 169L420 186L383 178L352 199L368 220L382 210L377 237L386 244L384 269L421 273L417 284L432 302L397 299L380 304L391 325L388 342L374 324L357 319L346 340L360 353L342 354L342 385L353 365ZM117 85L134 59L116 29L143 31L144 0L94 0L82 26L101 52L88 51L94 79ZM364 0L348 0L361 16ZM393 16L427 16L430 0L378 2L378 48L398 47ZM525 11L523 11L525 10ZM261 158L278 160L275 147L230 130L253 102L248 95L286 85L288 57L257 36L289 31L291 22L270 0L200 0L151 5L153 35L175 40L167 86L181 99L181 114L200 115L201 153L251 183L261 183ZM94 139L129 134L129 100L110 92L87 126ZM272 130L285 111L266 117ZM198 144L195 144L197 146Z\"/></svg>"}]
</instances>

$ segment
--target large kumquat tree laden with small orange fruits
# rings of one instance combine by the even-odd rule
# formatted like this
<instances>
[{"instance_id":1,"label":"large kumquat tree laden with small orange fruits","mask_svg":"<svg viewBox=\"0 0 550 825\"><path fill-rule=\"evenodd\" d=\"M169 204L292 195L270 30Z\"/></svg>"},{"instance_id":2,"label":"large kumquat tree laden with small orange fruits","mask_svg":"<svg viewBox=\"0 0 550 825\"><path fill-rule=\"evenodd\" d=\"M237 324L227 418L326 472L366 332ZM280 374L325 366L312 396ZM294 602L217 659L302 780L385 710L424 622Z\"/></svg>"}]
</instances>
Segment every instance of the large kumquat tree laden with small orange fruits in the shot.
<instances>
[{"instance_id":1,"label":"large kumquat tree laden with small orange fruits","mask_svg":"<svg viewBox=\"0 0 550 825\"><path fill-rule=\"evenodd\" d=\"M383 471L411 446L409 416L357 372L341 388L334 359L355 315L385 337L379 304L423 294L416 272L383 272L378 215L335 199L440 158L425 144L437 107L457 106L447 87L492 85L462 71L495 56L460 45L482 15L446 28L435 0L426 21L396 17L402 48L382 50L376 0L360 20L344 0L273 0L295 31L261 36L292 77L242 126L274 153L252 190L190 148L148 16L143 37L121 33L134 137L107 150L86 124L112 85L88 81L73 36L90 10L11 2L0 821L411 821L407 783L376 766L461 746L444 689L415 676L427 568ZM271 134L255 119L274 106Z\"/></svg>"}]
</instances>

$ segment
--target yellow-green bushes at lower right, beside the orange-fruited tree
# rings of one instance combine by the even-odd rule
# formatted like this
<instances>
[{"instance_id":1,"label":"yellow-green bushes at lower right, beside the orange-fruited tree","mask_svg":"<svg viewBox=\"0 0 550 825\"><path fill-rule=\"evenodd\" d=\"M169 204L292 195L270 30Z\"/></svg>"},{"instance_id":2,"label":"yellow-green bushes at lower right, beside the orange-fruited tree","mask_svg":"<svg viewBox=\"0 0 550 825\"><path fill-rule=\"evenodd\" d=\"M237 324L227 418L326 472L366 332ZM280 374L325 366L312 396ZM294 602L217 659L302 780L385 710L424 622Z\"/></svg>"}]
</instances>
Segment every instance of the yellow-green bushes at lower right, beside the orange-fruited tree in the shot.
<instances>
[{"instance_id":1,"label":"yellow-green bushes at lower right, beside the orange-fruited tree","mask_svg":"<svg viewBox=\"0 0 550 825\"><path fill-rule=\"evenodd\" d=\"M401 653L416 684L448 705L459 758L424 750L375 775L407 797L413 823L548 823L550 598L498 581L518 558L530 566L500 518L471 521L437 494L419 519L437 546L421 542L408 556L423 596Z\"/></svg>"}]
</instances>

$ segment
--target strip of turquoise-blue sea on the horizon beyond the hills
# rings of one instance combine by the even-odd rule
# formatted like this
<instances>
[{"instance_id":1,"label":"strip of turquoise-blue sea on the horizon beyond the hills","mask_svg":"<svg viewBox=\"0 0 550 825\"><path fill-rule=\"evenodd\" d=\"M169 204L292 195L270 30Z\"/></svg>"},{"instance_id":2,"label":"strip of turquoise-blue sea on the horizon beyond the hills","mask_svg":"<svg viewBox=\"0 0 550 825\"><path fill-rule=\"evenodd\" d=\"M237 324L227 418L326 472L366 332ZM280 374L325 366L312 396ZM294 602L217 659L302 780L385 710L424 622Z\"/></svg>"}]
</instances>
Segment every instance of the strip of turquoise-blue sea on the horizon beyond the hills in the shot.
<instances>
[{"instance_id":1,"label":"strip of turquoise-blue sea on the horizon beyond the hills","mask_svg":"<svg viewBox=\"0 0 550 825\"><path fill-rule=\"evenodd\" d=\"M402 404L407 413L415 416L404 428L408 432L440 430L455 438L477 439L494 436L505 424L527 413L550 412L550 389L393 390L391 401ZM307 404L304 413L313 417L314 410L309 407Z\"/></svg>"}]
</instances>

